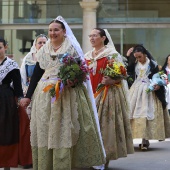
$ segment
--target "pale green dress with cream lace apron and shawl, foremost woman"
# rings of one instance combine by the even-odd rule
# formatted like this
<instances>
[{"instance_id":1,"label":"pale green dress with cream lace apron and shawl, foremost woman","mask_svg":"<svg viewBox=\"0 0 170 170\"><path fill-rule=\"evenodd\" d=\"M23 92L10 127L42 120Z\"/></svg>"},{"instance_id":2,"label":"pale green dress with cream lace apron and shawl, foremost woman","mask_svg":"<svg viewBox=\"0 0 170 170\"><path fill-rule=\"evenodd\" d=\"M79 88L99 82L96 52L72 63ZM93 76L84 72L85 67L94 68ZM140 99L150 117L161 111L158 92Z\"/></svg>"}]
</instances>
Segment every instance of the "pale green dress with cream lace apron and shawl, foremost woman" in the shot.
<instances>
[{"instance_id":1,"label":"pale green dress with cream lace apron and shawl, foremost woman","mask_svg":"<svg viewBox=\"0 0 170 170\"><path fill-rule=\"evenodd\" d=\"M105 162L86 87L65 88L54 103L49 92L43 92L56 83L61 66L59 59L53 60L50 55L66 52L77 55L67 38L57 52L48 41L37 53L45 72L35 89L31 113L34 170L71 170Z\"/></svg>"}]
</instances>

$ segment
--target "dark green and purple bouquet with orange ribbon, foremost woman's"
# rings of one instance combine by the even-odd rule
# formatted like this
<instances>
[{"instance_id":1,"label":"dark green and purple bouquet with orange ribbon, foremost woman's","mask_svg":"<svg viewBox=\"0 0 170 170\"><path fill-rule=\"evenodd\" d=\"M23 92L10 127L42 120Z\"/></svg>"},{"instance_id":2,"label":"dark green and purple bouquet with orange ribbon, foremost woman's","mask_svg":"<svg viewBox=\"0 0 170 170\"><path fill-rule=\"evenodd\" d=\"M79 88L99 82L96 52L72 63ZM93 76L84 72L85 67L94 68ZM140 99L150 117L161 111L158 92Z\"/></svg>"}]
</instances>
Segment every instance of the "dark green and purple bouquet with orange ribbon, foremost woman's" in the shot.
<instances>
[{"instance_id":1,"label":"dark green and purple bouquet with orange ribbon, foremost woman's","mask_svg":"<svg viewBox=\"0 0 170 170\"><path fill-rule=\"evenodd\" d=\"M57 83L49 85L50 88L47 88L52 100L58 99L59 94L64 90L64 87L67 86L67 80L74 84L73 87L76 87L88 79L88 68L80 57L73 57L70 54L65 53L59 60L60 63L62 63L62 66L57 75ZM44 91L46 92L47 90L44 89Z\"/></svg>"}]
</instances>

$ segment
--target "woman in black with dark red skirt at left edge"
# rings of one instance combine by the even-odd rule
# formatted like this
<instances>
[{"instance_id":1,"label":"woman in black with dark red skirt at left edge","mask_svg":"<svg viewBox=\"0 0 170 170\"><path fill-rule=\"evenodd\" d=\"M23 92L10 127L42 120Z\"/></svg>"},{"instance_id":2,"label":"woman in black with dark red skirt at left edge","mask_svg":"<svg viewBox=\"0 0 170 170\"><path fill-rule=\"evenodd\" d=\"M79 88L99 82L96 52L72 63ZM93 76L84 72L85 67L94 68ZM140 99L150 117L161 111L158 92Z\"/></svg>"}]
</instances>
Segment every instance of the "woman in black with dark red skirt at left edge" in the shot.
<instances>
[{"instance_id":1,"label":"woman in black with dark red skirt at left edge","mask_svg":"<svg viewBox=\"0 0 170 170\"><path fill-rule=\"evenodd\" d=\"M20 139L21 132L26 128L22 122L27 123L27 120L20 117L23 110L17 105L23 97L19 67L14 60L5 56L6 49L7 43L0 38L0 167L17 167L18 164L31 164L32 160L28 159L29 152L28 158L20 154L23 143L30 147L29 141L25 143ZM24 134L28 132L28 136L29 129L26 129Z\"/></svg>"}]
</instances>

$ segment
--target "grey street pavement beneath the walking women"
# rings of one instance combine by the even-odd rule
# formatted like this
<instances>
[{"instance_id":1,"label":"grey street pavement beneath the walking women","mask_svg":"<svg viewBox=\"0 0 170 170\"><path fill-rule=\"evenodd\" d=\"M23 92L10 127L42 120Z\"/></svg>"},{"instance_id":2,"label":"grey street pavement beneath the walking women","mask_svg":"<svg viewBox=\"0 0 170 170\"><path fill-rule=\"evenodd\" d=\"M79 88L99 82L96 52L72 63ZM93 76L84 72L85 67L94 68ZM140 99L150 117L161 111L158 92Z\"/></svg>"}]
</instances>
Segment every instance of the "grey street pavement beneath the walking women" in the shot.
<instances>
[{"instance_id":1,"label":"grey street pavement beneath the walking women","mask_svg":"<svg viewBox=\"0 0 170 170\"><path fill-rule=\"evenodd\" d=\"M141 139L135 139L135 153L128 155L127 158L111 161L109 170L170 170L170 138L162 142L156 140L150 141L151 144L148 151L141 151L138 148L140 142ZM0 168L0 170L4 169ZM11 168L10 170L22 170L22 168ZM81 168L74 170L89 169Z\"/></svg>"}]
</instances>

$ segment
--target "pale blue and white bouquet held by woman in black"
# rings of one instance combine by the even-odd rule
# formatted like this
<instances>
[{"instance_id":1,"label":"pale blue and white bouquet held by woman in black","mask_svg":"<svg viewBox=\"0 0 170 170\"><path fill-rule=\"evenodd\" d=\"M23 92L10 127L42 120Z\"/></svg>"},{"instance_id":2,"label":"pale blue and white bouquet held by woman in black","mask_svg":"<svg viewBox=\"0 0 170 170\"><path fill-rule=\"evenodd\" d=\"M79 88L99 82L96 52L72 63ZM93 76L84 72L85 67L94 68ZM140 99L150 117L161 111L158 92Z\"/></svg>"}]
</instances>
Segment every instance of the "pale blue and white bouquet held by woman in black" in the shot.
<instances>
[{"instance_id":1,"label":"pale blue and white bouquet held by woman in black","mask_svg":"<svg viewBox=\"0 0 170 170\"><path fill-rule=\"evenodd\" d=\"M159 71L158 73L155 73L152 76L152 79L150 80L150 85L146 89L146 92L152 92L154 91L154 86L159 85L159 86L165 86L167 84L167 75L163 71Z\"/></svg>"}]
</instances>

